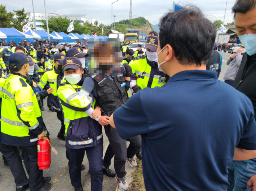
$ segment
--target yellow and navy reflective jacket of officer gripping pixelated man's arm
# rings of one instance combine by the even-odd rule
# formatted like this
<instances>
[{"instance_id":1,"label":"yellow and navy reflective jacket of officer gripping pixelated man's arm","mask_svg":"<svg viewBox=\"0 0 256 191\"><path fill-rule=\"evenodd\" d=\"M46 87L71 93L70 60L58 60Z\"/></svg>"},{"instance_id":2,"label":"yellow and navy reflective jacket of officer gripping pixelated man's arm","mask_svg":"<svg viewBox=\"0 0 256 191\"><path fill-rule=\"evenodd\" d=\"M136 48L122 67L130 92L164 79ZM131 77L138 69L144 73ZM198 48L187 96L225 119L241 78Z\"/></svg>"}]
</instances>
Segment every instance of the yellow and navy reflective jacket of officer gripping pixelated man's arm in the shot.
<instances>
[{"instance_id":1,"label":"yellow and navy reflective jacket of officer gripping pixelated man's arm","mask_svg":"<svg viewBox=\"0 0 256 191\"><path fill-rule=\"evenodd\" d=\"M66 126L66 146L71 149L96 146L103 140L101 125L85 113L90 107L94 108L96 100L92 94L81 97L81 85L72 85L63 80L58 88Z\"/></svg>"}]
</instances>

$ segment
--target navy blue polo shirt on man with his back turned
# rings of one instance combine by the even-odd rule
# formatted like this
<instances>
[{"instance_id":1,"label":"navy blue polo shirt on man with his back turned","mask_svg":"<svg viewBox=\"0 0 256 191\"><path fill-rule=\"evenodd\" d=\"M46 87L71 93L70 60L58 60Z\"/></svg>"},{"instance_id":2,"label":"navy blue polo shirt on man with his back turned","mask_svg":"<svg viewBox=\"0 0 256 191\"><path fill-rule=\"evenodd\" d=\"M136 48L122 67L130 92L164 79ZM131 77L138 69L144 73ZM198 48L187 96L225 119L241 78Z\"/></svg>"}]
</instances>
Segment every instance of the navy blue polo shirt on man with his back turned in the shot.
<instances>
[{"instance_id":1,"label":"navy blue polo shirt on man with his back turned","mask_svg":"<svg viewBox=\"0 0 256 191\"><path fill-rule=\"evenodd\" d=\"M256 150L250 99L216 71L173 75L144 88L114 112L123 139L142 135L147 191L226 191L235 147Z\"/></svg>"}]
</instances>

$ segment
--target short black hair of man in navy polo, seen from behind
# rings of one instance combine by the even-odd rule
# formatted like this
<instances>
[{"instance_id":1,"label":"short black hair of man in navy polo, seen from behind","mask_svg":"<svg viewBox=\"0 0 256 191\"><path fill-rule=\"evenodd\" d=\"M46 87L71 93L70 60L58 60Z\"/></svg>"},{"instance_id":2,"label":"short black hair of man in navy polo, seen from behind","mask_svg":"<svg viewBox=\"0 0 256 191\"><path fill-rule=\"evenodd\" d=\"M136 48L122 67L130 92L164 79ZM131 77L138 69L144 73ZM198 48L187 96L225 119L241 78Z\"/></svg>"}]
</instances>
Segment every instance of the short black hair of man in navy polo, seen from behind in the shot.
<instances>
[{"instance_id":1,"label":"short black hair of man in navy polo, seen from behind","mask_svg":"<svg viewBox=\"0 0 256 191\"><path fill-rule=\"evenodd\" d=\"M180 64L200 66L210 59L216 27L196 6L169 11L160 19L159 26L160 48L171 45Z\"/></svg>"}]
</instances>

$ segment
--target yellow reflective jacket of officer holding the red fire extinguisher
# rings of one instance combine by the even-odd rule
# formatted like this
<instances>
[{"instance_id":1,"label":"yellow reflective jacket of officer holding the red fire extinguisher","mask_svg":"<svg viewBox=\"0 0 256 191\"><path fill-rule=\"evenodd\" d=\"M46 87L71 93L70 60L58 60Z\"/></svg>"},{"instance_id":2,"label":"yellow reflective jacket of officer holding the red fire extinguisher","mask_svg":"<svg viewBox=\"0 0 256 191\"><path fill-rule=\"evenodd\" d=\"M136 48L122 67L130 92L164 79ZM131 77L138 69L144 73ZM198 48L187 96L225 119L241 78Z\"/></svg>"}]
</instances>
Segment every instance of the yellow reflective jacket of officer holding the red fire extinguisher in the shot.
<instances>
[{"instance_id":1,"label":"yellow reflective jacket of officer holding the red fire extinguisher","mask_svg":"<svg viewBox=\"0 0 256 191\"><path fill-rule=\"evenodd\" d=\"M18 73L6 79L1 107L1 143L13 146L37 144L44 128L37 95L31 82Z\"/></svg>"}]
</instances>

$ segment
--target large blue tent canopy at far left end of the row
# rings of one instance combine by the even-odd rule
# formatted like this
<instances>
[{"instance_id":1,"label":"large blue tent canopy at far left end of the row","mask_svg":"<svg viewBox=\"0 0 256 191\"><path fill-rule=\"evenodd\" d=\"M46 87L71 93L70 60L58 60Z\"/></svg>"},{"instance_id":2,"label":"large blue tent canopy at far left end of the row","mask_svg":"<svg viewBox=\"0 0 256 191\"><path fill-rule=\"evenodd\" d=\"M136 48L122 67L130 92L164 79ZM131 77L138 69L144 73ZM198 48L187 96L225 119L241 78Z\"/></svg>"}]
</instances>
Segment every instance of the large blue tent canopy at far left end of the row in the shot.
<instances>
[{"instance_id":1,"label":"large blue tent canopy at far left end of the row","mask_svg":"<svg viewBox=\"0 0 256 191\"><path fill-rule=\"evenodd\" d=\"M10 41L16 41L17 43L24 41L26 38L27 42L33 40L33 36L19 32L15 28L0 28L0 37L9 43Z\"/></svg>"}]
</instances>

